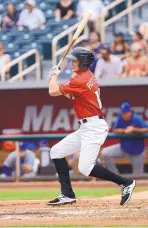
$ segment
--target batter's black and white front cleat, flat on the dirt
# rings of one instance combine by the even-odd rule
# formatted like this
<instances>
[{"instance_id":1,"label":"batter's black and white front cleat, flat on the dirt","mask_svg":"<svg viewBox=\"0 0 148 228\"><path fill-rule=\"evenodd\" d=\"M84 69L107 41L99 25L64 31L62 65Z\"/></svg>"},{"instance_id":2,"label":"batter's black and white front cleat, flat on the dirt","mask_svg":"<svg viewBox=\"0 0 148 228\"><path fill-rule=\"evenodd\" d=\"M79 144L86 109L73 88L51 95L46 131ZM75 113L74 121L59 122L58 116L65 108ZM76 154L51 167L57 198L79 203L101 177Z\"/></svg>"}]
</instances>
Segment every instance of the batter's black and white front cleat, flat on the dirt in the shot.
<instances>
[{"instance_id":1,"label":"batter's black and white front cleat, flat on the dirt","mask_svg":"<svg viewBox=\"0 0 148 228\"><path fill-rule=\"evenodd\" d=\"M73 203L76 203L75 198L69 198L61 194L56 199L49 201L47 205L55 206L55 205L64 205L64 204L73 204Z\"/></svg>"}]
</instances>

